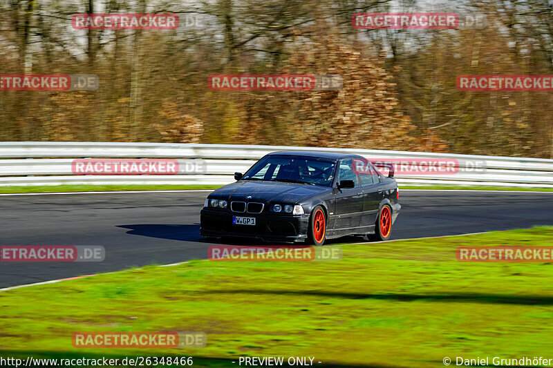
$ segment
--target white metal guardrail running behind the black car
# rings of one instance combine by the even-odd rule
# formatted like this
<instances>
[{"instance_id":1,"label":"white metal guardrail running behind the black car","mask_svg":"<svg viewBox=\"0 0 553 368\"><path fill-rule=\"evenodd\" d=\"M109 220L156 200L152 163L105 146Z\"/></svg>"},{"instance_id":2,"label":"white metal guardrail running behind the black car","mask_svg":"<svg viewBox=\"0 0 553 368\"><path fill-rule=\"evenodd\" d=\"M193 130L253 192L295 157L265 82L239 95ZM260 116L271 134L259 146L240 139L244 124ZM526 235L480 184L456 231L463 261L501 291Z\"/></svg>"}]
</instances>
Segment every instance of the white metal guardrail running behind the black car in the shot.
<instances>
[{"instance_id":1,"label":"white metal guardrail running behind the black car","mask_svg":"<svg viewBox=\"0 0 553 368\"><path fill-rule=\"evenodd\" d=\"M228 184L233 173L245 172L257 159L274 151L326 151L355 153L378 161L417 162L418 170L397 171L400 184L458 184L553 188L553 159L453 155L407 151L233 144L0 142L0 186L59 184ZM177 175L75 175L74 159L148 158L200 159L202 171ZM455 170L433 171L433 162L449 160ZM399 167L399 166L398 166ZM407 170L409 171L409 170Z\"/></svg>"}]
</instances>

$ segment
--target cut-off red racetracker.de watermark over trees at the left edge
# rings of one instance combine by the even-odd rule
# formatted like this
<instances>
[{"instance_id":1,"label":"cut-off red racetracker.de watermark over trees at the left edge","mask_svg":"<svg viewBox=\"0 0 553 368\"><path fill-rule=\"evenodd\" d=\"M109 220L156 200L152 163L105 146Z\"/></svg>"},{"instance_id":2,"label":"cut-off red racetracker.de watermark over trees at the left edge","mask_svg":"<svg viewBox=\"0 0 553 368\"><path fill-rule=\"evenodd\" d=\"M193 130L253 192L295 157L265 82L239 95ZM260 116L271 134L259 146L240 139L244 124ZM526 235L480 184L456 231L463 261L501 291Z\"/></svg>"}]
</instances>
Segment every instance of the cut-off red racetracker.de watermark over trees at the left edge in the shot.
<instances>
[{"instance_id":1,"label":"cut-off red racetracker.de watermark over trees at the left edge","mask_svg":"<svg viewBox=\"0 0 553 368\"><path fill-rule=\"evenodd\" d=\"M94 74L0 74L0 90L97 90Z\"/></svg>"}]
</instances>

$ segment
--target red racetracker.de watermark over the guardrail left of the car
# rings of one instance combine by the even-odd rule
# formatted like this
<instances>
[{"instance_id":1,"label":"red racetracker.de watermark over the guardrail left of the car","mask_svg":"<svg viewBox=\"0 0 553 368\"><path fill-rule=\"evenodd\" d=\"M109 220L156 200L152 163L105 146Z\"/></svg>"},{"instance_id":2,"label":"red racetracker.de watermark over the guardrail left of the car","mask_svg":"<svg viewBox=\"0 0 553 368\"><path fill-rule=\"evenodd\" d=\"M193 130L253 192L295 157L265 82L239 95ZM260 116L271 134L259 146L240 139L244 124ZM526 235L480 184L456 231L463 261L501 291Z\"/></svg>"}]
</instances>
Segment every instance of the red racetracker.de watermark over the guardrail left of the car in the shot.
<instances>
[{"instance_id":1,"label":"red racetracker.de watermark over the guardrail left of the car","mask_svg":"<svg viewBox=\"0 0 553 368\"><path fill-rule=\"evenodd\" d=\"M177 175L207 170L203 159L74 159L75 175Z\"/></svg>"}]
</instances>

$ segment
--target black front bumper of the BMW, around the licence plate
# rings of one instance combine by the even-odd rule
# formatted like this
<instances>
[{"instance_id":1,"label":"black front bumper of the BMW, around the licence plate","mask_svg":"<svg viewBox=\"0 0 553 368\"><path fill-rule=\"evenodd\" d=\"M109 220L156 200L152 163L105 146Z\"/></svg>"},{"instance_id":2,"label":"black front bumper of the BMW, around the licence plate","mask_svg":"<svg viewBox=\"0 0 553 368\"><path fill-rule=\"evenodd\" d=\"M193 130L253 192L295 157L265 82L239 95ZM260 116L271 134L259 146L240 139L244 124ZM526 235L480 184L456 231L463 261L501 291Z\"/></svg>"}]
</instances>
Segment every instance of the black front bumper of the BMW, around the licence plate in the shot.
<instances>
[{"instance_id":1,"label":"black front bumper of the BMW, around the licence plate","mask_svg":"<svg viewBox=\"0 0 553 368\"><path fill-rule=\"evenodd\" d=\"M232 216L256 217L255 225L236 225ZM256 238L266 242L303 242L308 238L309 215L232 213L213 209L200 212L200 235Z\"/></svg>"}]
</instances>

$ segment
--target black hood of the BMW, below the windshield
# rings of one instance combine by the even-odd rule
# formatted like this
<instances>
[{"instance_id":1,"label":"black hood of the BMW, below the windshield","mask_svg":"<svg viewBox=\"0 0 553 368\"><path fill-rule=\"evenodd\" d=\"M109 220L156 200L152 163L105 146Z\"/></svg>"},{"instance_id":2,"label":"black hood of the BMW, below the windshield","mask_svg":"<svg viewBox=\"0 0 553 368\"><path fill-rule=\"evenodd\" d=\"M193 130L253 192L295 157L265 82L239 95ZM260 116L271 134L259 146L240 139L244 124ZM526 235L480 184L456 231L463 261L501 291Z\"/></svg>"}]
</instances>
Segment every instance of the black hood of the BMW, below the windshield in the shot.
<instances>
[{"instance_id":1,"label":"black hood of the BMW, below the windshield","mask_svg":"<svg viewBox=\"0 0 553 368\"><path fill-rule=\"evenodd\" d=\"M328 186L306 185L283 182L243 181L218 188L210 196L229 200L247 200L249 202L298 203L303 198L330 191ZM252 198L246 199L248 195Z\"/></svg>"}]
</instances>

